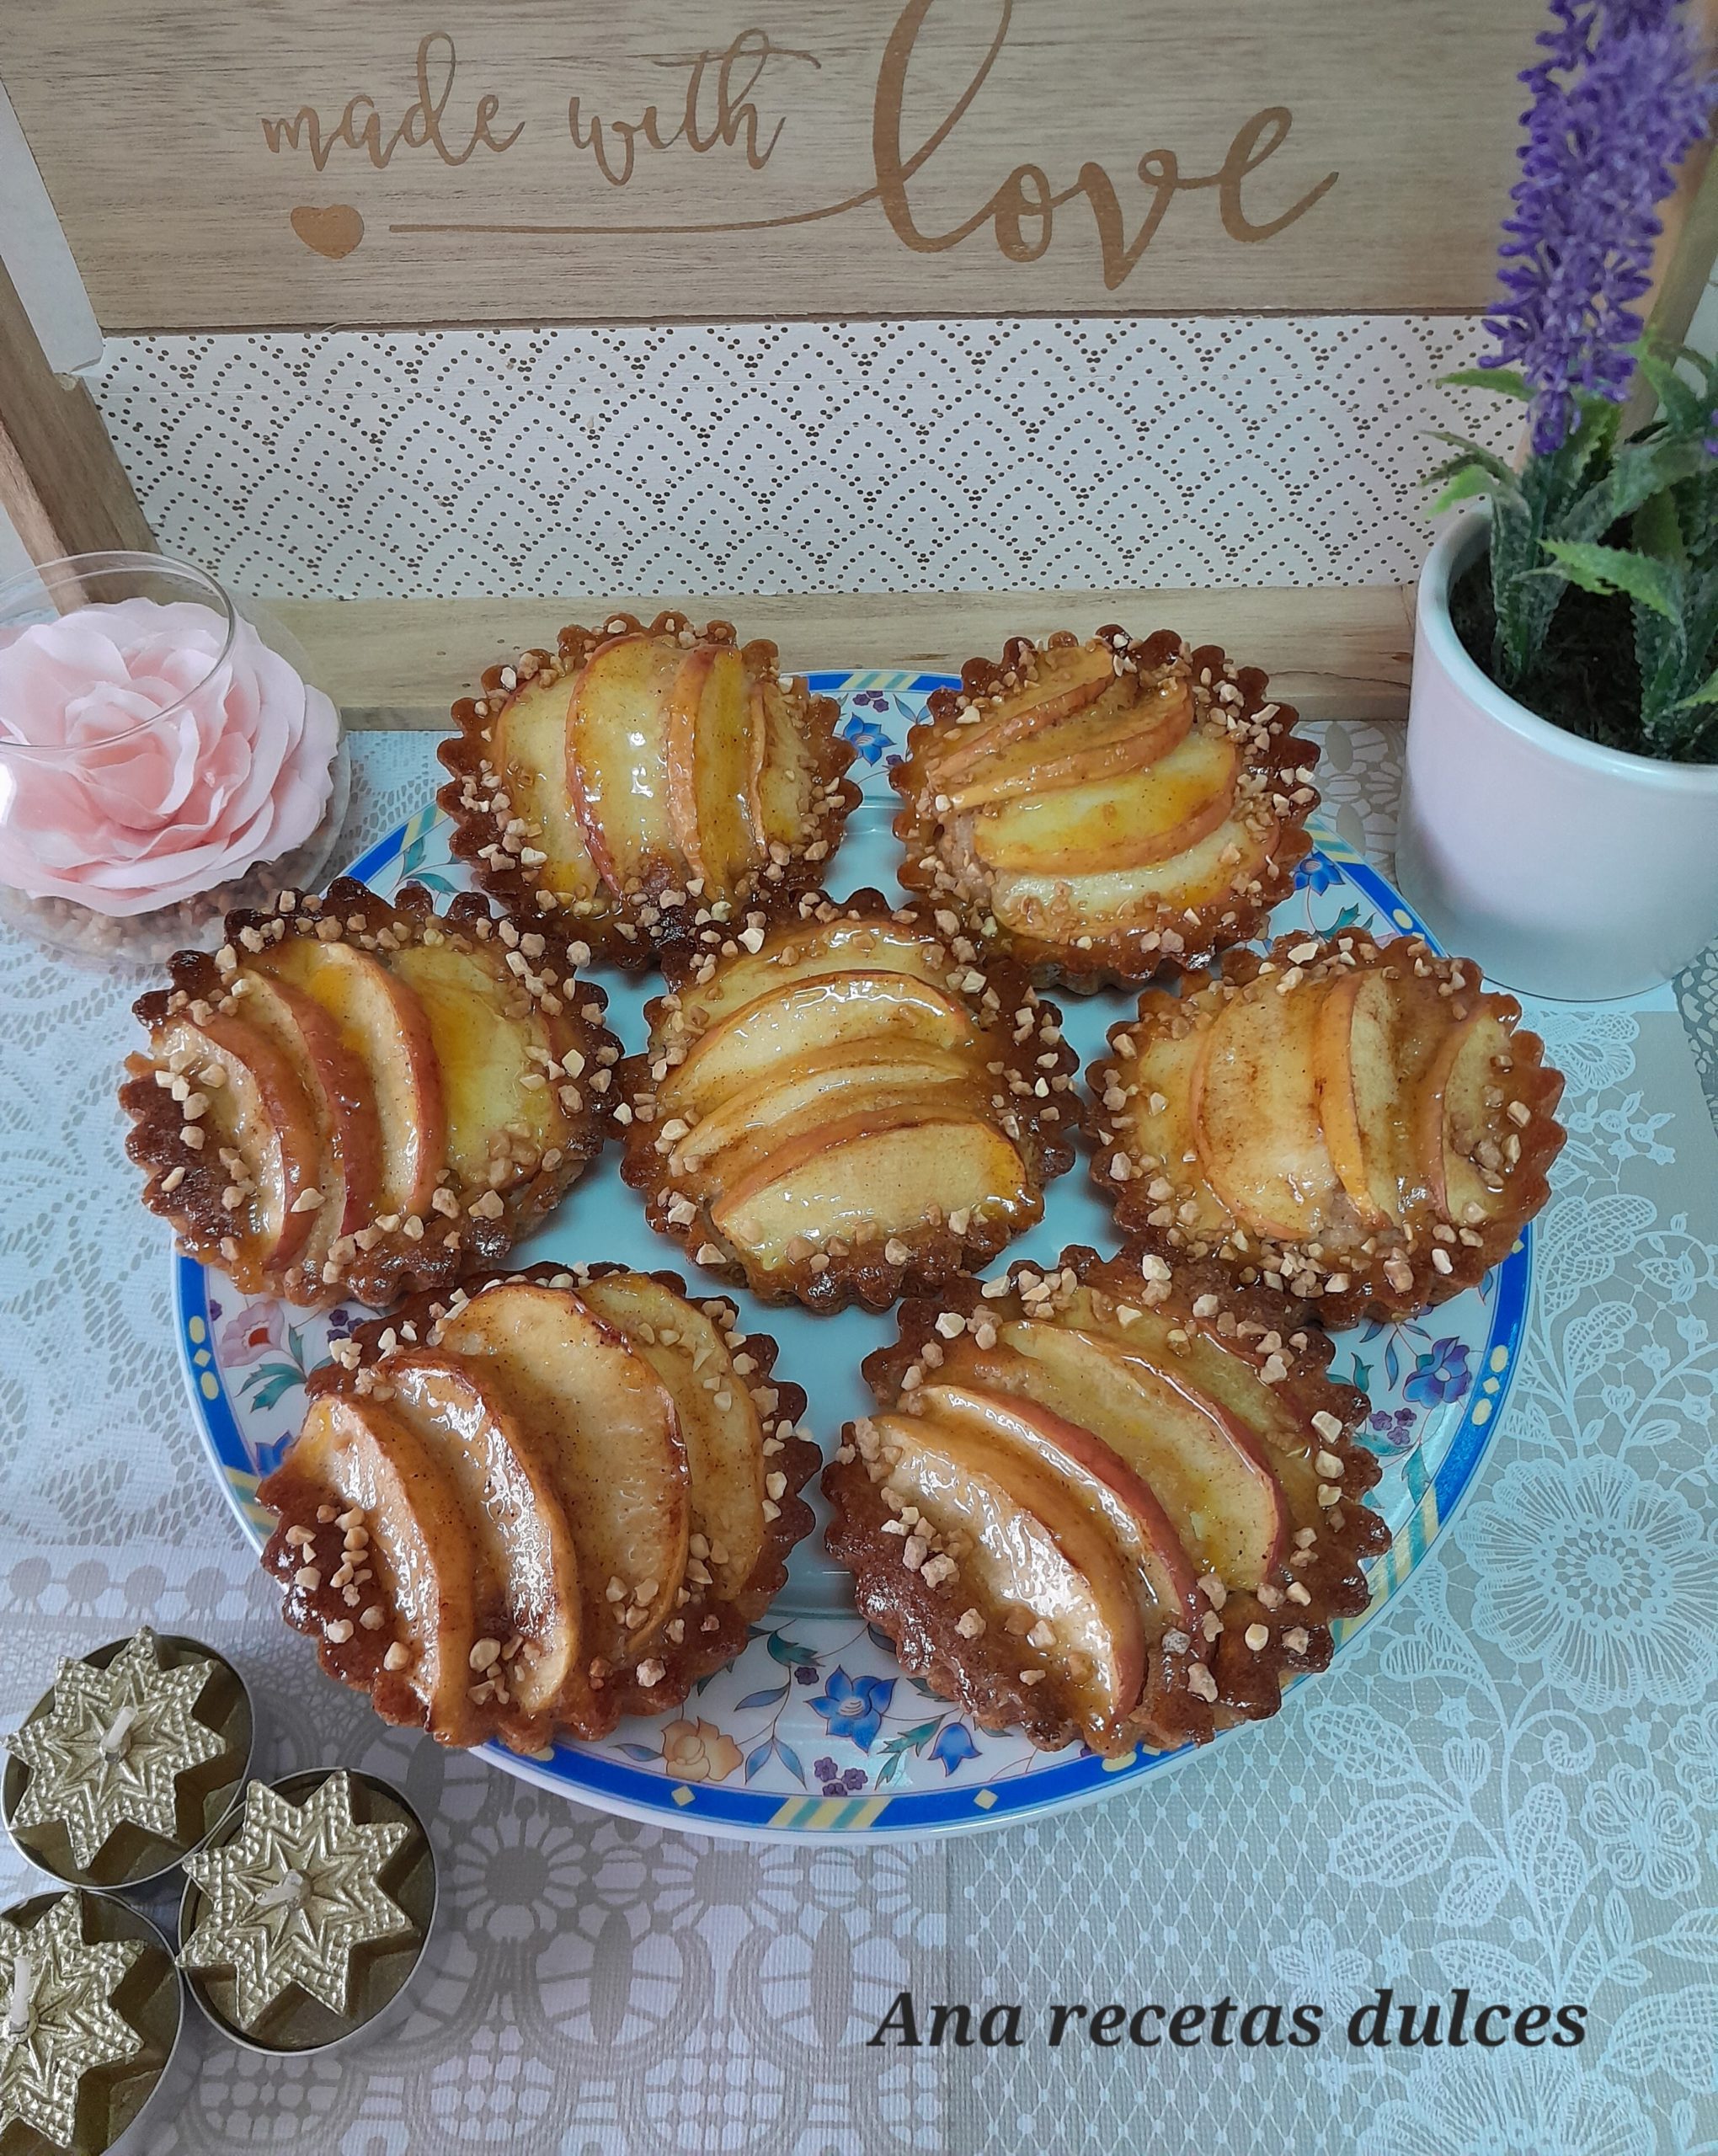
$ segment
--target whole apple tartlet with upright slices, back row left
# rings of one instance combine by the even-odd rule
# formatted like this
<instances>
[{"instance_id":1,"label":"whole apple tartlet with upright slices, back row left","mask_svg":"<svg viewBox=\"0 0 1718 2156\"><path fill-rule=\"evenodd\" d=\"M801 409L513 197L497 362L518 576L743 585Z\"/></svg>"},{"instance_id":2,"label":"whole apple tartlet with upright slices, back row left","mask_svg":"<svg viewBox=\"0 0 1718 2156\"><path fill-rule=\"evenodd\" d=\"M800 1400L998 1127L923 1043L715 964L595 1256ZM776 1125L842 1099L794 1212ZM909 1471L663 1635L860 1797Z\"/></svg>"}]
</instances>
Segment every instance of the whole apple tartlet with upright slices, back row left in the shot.
<instances>
[{"instance_id":1,"label":"whole apple tartlet with upright slices, back row left","mask_svg":"<svg viewBox=\"0 0 1718 2156\"><path fill-rule=\"evenodd\" d=\"M560 918L619 966L752 890L821 882L860 798L834 699L726 621L567 627L453 718L453 852L509 912Z\"/></svg>"}]
</instances>

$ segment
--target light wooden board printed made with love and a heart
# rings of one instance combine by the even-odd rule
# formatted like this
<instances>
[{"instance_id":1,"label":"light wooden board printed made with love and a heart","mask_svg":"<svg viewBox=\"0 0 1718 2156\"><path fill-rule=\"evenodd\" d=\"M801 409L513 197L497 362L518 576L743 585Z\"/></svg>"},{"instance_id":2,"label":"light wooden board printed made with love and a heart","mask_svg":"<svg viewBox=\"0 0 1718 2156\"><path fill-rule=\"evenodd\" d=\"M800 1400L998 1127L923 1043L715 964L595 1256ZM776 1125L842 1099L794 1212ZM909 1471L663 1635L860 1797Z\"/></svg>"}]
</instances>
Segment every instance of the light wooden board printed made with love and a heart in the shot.
<instances>
[{"instance_id":1,"label":"light wooden board printed made with love and a heart","mask_svg":"<svg viewBox=\"0 0 1718 2156\"><path fill-rule=\"evenodd\" d=\"M1543 0L9 0L106 330L1477 310Z\"/></svg>"}]
</instances>

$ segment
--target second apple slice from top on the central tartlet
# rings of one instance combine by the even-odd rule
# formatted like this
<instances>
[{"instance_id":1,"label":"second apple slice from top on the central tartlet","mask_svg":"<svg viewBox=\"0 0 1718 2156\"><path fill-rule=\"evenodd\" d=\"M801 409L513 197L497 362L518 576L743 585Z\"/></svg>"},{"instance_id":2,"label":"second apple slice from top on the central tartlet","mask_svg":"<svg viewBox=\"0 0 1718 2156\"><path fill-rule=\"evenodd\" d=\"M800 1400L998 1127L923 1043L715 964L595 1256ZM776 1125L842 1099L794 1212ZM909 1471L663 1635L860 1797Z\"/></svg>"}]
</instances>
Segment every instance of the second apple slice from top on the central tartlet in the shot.
<instances>
[{"instance_id":1,"label":"second apple slice from top on the central tartlet","mask_svg":"<svg viewBox=\"0 0 1718 2156\"><path fill-rule=\"evenodd\" d=\"M970 1048L966 1007L929 981L901 972L832 972L759 996L698 1035L657 1095L670 1112L705 1110L757 1078L856 1041L948 1052Z\"/></svg>"}]
</instances>

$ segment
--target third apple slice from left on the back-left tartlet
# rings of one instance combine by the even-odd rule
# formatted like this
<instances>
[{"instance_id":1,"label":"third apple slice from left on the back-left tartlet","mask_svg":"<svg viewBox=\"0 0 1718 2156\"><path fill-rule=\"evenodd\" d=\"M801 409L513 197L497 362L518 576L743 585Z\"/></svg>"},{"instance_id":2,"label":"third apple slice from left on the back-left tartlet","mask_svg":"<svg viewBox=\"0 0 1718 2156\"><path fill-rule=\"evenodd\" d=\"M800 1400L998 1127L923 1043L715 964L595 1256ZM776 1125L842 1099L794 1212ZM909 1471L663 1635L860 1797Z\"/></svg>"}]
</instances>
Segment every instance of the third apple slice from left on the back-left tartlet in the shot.
<instances>
[{"instance_id":1,"label":"third apple slice from left on the back-left tartlet","mask_svg":"<svg viewBox=\"0 0 1718 2156\"><path fill-rule=\"evenodd\" d=\"M746 662L731 645L694 645L668 692L668 819L707 899L733 890L757 852L759 770Z\"/></svg>"}]
</instances>

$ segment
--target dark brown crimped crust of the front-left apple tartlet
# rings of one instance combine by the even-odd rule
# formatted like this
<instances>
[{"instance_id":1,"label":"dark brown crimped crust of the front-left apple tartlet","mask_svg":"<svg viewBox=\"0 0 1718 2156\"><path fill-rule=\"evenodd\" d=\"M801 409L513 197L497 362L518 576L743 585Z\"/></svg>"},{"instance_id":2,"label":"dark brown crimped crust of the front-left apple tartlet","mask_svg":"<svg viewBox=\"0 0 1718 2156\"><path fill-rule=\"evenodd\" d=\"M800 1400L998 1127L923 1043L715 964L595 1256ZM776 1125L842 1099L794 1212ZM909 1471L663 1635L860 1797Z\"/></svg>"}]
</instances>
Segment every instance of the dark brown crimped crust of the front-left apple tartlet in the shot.
<instances>
[{"instance_id":1,"label":"dark brown crimped crust of the front-left apple tartlet","mask_svg":"<svg viewBox=\"0 0 1718 2156\"><path fill-rule=\"evenodd\" d=\"M341 1503L300 1466L289 1449L259 1496L278 1514L274 1535L263 1550L263 1567L280 1583L287 1623L317 1643L317 1658L330 1677L369 1692L377 1714L405 1727L429 1727L442 1742L479 1744L500 1738L515 1751L537 1751L558 1731L578 1738L608 1736L627 1714L666 1714L679 1708L688 1692L711 1671L731 1662L750 1636L750 1626L763 1617L787 1580L787 1559L813 1526L810 1507L800 1490L819 1464L817 1447L802 1434L800 1419L806 1395L800 1386L776 1378L776 1341L767 1332L742 1332L739 1313L720 1296L688 1296L675 1272L636 1276L625 1266L530 1266L522 1272L491 1272L466 1281L448 1296L414 1296L388 1317L356 1326L351 1337L334 1343L336 1360L310 1373L308 1393L315 1404L330 1399L371 1401L384 1412L392 1401L392 1380L425 1352L442 1343L444 1326L491 1287L530 1285L552 1291L582 1289L604 1281L645 1279L666 1289L688 1309L688 1324L707 1319L718 1345L698 1363L705 1386L744 1386L761 1429L763 1449L763 1535L754 1565L726 1598L720 1593L722 1552L711 1548L698 1524L698 1492L692 1492L692 1526L688 1535L685 1572L673 1591L673 1615L653 1626L645 1643L625 1660L606 1662L580 1656L558 1699L550 1710L522 1712L507 1682L517 1639L502 1634L502 1623L479 1634L468 1651L468 1669L459 1682L463 1695L457 1718L440 1718L414 1682L422 1658L420 1623L384 1593L366 1570L373 1544L362 1507ZM638 1352L655 1348L655 1335L627 1332ZM459 1360L459 1358L455 1358ZM502 1408L502 1412L507 1412ZM308 1419L306 1419L308 1421ZM683 1451L683 1447L681 1447ZM550 1483L554 1477L550 1477ZM545 1503L554 1505L550 1494ZM573 1520L578 1539L578 1520ZM369 1561L373 1563L373 1561ZM621 1580L582 1580L586 1604L616 1600ZM645 1583L657 1587L662 1583ZM636 1600L636 1598L634 1598ZM366 1611L377 1611L375 1619ZM476 1613L479 1619L485 1613ZM491 1613L494 1615L494 1613ZM487 1641L487 1643L485 1643ZM494 1651L491 1651L494 1649Z\"/></svg>"}]
</instances>

